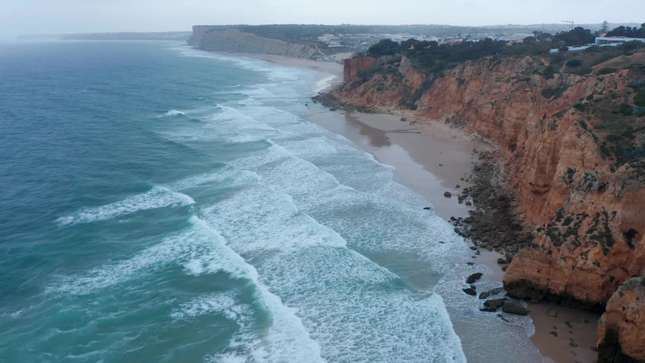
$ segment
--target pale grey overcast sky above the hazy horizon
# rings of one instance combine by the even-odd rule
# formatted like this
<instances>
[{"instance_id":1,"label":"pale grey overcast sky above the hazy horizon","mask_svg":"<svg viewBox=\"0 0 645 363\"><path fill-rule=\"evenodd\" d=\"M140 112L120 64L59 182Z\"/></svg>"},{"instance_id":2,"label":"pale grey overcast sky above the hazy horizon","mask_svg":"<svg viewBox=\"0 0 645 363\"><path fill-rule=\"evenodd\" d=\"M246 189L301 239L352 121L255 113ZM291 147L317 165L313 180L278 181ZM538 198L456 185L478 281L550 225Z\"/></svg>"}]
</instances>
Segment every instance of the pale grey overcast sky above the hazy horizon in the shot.
<instances>
[{"instance_id":1,"label":"pale grey overcast sky above the hazy horizon","mask_svg":"<svg viewBox=\"0 0 645 363\"><path fill-rule=\"evenodd\" d=\"M619 5L619 6L615 6ZM645 0L0 0L4 36L160 32L197 24L645 22Z\"/></svg>"}]
</instances>

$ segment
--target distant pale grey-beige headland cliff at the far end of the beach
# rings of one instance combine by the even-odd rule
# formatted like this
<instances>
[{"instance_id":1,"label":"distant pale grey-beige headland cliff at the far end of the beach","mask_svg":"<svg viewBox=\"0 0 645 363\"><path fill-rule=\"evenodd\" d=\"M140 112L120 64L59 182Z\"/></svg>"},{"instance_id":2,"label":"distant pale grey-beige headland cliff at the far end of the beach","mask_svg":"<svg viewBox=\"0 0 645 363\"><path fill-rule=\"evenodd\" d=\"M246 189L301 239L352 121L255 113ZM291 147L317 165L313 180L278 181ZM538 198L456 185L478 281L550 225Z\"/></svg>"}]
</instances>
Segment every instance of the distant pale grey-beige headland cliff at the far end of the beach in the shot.
<instances>
[{"instance_id":1,"label":"distant pale grey-beige headland cliff at the far end of the beach","mask_svg":"<svg viewBox=\"0 0 645 363\"><path fill-rule=\"evenodd\" d=\"M235 28L213 29L207 25L193 26L193 36L188 40L188 44L204 50L276 54L297 58L309 58L320 54L319 49L305 43L258 36Z\"/></svg>"}]
</instances>

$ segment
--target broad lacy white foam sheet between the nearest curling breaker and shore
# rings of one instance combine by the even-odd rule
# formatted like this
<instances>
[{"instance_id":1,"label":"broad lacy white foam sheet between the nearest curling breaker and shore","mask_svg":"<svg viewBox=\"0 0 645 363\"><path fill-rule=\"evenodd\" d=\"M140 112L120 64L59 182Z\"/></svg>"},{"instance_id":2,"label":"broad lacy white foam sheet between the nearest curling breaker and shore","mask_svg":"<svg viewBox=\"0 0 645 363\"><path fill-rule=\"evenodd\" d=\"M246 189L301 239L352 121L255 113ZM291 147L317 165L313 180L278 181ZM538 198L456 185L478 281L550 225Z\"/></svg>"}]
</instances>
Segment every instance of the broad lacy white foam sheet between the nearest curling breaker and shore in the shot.
<instances>
[{"instance_id":1,"label":"broad lacy white foam sheet between the nearest curling breaker and shore","mask_svg":"<svg viewBox=\"0 0 645 363\"><path fill-rule=\"evenodd\" d=\"M297 307L328 360L465 361L439 296L416 296L396 275L347 249L335 231L299 212L287 194L260 184L201 214L254 262L262 284ZM215 261L199 266L210 264Z\"/></svg>"}]
</instances>

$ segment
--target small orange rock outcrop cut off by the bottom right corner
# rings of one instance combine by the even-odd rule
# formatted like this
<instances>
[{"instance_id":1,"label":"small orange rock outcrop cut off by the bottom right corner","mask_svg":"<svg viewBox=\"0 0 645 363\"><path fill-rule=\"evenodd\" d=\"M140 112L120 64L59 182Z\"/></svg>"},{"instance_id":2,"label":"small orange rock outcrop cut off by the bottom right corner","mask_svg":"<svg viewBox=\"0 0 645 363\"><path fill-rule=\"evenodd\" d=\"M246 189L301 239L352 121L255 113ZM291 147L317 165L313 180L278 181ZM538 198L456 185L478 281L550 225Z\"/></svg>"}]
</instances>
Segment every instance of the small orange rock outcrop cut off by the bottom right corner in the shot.
<instances>
[{"instance_id":1,"label":"small orange rock outcrop cut off by the bottom right corner","mask_svg":"<svg viewBox=\"0 0 645 363\"><path fill-rule=\"evenodd\" d=\"M598 326L598 363L645 362L645 276L611 296Z\"/></svg>"}]
</instances>

